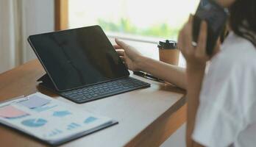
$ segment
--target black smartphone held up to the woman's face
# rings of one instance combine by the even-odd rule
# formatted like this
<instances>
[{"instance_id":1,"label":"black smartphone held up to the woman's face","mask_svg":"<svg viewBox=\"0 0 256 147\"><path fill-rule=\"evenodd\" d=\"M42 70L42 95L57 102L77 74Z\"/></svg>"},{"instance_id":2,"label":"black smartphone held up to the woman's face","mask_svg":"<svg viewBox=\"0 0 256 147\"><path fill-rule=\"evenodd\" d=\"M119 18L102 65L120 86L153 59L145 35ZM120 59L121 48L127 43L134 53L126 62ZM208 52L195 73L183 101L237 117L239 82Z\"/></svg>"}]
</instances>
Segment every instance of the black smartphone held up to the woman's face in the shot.
<instances>
[{"instance_id":1,"label":"black smartphone held up to the woman's face","mask_svg":"<svg viewBox=\"0 0 256 147\"><path fill-rule=\"evenodd\" d=\"M196 14L193 17L193 44L196 45L199 37L201 22L207 22L207 55L213 54L218 37L227 24L228 11L214 0L201 0Z\"/></svg>"}]
</instances>

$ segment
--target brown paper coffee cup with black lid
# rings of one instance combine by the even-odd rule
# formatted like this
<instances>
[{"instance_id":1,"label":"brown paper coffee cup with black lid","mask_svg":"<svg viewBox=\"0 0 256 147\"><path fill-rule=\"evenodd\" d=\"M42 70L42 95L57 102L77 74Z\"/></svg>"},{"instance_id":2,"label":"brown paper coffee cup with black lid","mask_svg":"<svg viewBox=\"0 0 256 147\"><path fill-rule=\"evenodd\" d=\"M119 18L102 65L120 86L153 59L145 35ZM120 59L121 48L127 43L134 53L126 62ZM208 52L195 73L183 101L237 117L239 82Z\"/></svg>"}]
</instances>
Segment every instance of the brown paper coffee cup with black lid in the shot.
<instances>
[{"instance_id":1,"label":"brown paper coffee cup with black lid","mask_svg":"<svg viewBox=\"0 0 256 147\"><path fill-rule=\"evenodd\" d=\"M171 65L179 65L179 50L177 42L173 40L160 41L158 43L159 59Z\"/></svg>"}]
</instances>

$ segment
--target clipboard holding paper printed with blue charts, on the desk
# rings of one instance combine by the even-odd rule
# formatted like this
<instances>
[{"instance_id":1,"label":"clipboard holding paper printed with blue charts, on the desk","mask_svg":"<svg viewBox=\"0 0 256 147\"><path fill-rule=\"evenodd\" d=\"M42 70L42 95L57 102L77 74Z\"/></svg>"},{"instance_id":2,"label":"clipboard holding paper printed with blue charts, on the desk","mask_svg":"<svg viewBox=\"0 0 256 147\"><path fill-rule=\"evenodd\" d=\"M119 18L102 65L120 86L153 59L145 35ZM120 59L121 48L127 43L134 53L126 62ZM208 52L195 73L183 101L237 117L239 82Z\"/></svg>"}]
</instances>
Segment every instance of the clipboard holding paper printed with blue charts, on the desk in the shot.
<instances>
[{"instance_id":1,"label":"clipboard holding paper printed with blue charts, on the desk","mask_svg":"<svg viewBox=\"0 0 256 147\"><path fill-rule=\"evenodd\" d=\"M0 123L57 146L113 126L117 121L34 93L0 103Z\"/></svg>"}]
</instances>

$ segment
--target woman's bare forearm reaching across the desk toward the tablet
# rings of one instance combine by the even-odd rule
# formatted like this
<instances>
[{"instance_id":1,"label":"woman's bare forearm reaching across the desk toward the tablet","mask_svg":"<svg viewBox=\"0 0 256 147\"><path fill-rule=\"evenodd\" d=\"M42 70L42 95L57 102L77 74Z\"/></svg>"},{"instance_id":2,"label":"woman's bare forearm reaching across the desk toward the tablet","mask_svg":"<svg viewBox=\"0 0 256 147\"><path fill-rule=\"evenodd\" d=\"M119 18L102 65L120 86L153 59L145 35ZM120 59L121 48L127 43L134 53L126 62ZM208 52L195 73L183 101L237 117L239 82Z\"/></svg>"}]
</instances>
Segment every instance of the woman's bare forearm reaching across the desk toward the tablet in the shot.
<instances>
[{"instance_id":1,"label":"woman's bare forearm reaching across the desk toward the tablet","mask_svg":"<svg viewBox=\"0 0 256 147\"><path fill-rule=\"evenodd\" d=\"M151 73L160 79L177 85L182 89L186 89L186 76L185 68L180 68L175 65L169 65L165 62L153 60L149 57L143 57L139 63L141 71Z\"/></svg>"}]
</instances>

